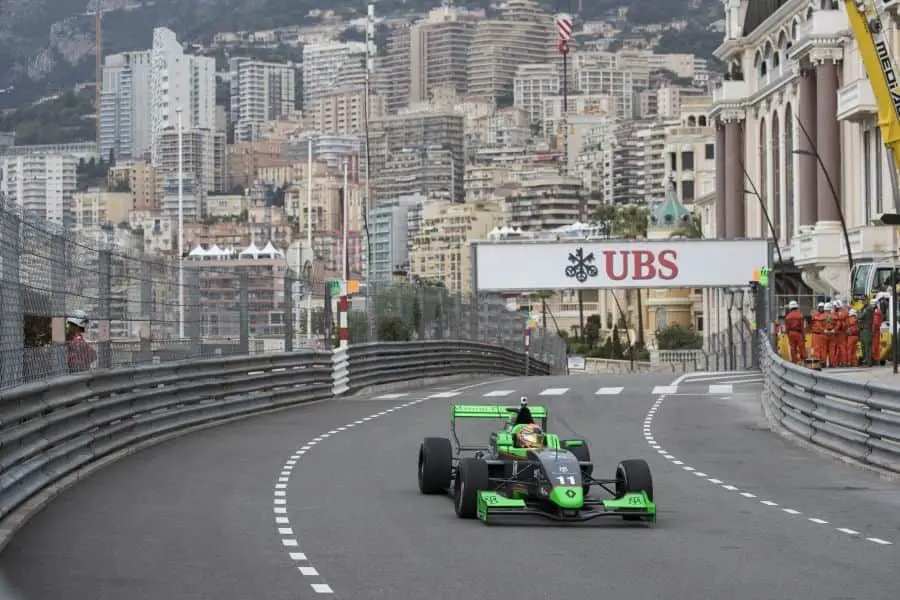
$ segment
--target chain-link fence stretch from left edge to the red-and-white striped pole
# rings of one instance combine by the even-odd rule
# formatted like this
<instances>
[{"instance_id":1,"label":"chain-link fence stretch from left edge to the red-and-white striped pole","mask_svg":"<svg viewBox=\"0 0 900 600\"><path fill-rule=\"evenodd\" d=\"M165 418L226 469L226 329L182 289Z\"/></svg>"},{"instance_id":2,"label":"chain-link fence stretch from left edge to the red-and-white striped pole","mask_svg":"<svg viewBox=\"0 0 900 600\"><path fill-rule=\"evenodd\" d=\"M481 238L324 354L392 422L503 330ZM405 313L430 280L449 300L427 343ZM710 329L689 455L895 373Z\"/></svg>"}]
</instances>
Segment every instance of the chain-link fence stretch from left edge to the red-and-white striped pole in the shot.
<instances>
[{"instance_id":1,"label":"chain-link fence stretch from left edge to the red-and-white striped pole","mask_svg":"<svg viewBox=\"0 0 900 600\"><path fill-rule=\"evenodd\" d=\"M124 225L73 233L0 206L0 388L324 343L325 284L297 276L280 253L179 261L145 251L146 241L164 245L157 236ZM69 323L78 319L83 331Z\"/></svg>"}]
</instances>

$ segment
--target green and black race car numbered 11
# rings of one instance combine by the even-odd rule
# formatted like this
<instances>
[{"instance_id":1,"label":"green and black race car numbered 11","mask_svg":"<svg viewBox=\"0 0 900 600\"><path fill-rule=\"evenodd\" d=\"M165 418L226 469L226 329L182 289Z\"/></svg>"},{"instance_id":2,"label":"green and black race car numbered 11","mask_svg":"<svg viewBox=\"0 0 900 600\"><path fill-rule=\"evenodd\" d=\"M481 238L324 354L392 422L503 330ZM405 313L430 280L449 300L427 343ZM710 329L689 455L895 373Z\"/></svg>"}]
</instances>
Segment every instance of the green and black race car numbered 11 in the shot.
<instances>
[{"instance_id":1,"label":"green and black race car numbered 11","mask_svg":"<svg viewBox=\"0 0 900 600\"><path fill-rule=\"evenodd\" d=\"M465 446L456 434L458 419L501 419L504 424L491 433L487 445ZM587 442L560 440L547 433L547 420L547 408L528 406L527 398L522 398L519 407L452 404L454 443L441 437L422 442L419 490L448 493L457 516L485 523L535 516L562 522L609 516L656 521L653 479L646 461L623 460L615 477L595 478ZM594 487L610 497L590 497Z\"/></svg>"}]
</instances>

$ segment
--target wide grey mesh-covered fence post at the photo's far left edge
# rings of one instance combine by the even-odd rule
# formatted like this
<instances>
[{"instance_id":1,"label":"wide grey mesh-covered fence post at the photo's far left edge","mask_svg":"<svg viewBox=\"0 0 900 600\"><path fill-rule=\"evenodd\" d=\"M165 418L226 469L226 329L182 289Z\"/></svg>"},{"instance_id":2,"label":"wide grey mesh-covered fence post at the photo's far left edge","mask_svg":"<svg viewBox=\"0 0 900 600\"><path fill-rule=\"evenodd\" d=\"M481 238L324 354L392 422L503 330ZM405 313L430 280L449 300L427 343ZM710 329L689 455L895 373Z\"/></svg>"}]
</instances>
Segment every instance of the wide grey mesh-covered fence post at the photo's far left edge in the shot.
<instances>
[{"instance_id":1,"label":"wide grey mesh-covered fence post at the photo's far left edge","mask_svg":"<svg viewBox=\"0 0 900 600\"><path fill-rule=\"evenodd\" d=\"M19 218L0 207L0 385L25 379L25 310L19 261L22 232Z\"/></svg>"}]
</instances>

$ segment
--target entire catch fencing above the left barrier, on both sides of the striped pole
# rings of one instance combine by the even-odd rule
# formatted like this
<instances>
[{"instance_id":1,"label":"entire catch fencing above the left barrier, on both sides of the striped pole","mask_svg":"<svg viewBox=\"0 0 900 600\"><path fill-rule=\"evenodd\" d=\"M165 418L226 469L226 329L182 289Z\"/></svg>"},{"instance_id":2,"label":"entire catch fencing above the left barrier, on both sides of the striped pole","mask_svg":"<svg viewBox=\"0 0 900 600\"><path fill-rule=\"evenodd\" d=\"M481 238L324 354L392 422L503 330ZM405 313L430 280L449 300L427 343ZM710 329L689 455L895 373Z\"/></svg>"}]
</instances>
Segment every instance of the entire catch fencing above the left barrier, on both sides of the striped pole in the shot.
<instances>
[{"instance_id":1,"label":"entire catch fencing above the left barrier, on both sides of the striped pole","mask_svg":"<svg viewBox=\"0 0 900 600\"><path fill-rule=\"evenodd\" d=\"M90 321L84 339L94 350L91 369L336 345L326 273L308 263L297 272L278 249L179 260L172 242L172 231L159 224L74 233L0 206L0 389L72 372L66 317L76 311ZM524 317L496 296L385 283L352 302L352 345L462 339L524 348ZM565 362L557 336L536 336L532 348Z\"/></svg>"}]
</instances>

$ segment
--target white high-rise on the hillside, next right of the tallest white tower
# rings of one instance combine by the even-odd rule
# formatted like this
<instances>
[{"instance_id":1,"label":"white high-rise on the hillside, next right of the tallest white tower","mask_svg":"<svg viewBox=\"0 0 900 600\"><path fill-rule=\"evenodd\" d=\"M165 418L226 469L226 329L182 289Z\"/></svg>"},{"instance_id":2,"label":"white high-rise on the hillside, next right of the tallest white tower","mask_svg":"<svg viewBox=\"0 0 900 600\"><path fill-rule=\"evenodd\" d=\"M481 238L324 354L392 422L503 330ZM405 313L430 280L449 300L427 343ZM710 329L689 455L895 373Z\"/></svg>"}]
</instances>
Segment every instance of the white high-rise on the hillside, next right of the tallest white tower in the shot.
<instances>
[{"instance_id":1,"label":"white high-rise on the hillside, next right of the tallest white tower","mask_svg":"<svg viewBox=\"0 0 900 600\"><path fill-rule=\"evenodd\" d=\"M230 59L228 67L235 141L258 139L260 125L293 112L296 84L293 65L238 57Z\"/></svg>"}]
</instances>

